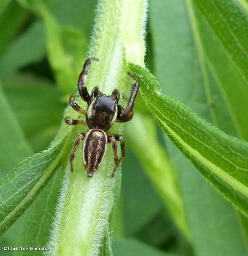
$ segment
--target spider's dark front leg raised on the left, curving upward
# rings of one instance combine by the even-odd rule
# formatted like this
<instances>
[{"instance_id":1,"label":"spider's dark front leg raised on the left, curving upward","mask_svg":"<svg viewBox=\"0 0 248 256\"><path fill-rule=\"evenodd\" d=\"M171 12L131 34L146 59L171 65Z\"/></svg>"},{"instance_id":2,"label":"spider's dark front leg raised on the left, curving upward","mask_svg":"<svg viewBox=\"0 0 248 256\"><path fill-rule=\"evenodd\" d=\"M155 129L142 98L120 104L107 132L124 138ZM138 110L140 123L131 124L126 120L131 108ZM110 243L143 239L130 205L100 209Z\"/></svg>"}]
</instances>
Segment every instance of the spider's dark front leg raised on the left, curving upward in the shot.
<instances>
[{"instance_id":1,"label":"spider's dark front leg raised on the left, curving upward","mask_svg":"<svg viewBox=\"0 0 248 256\"><path fill-rule=\"evenodd\" d=\"M83 67L81 73L79 74L79 80L78 80L79 94L80 94L82 100L86 101L88 105L90 104L90 95L89 95L88 90L85 86L85 79L86 79L86 76L88 74L88 70L90 68L90 64L91 64L92 60L99 61L98 58L94 58L94 57L93 58L88 58L84 63L84 67Z\"/></svg>"}]
</instances>

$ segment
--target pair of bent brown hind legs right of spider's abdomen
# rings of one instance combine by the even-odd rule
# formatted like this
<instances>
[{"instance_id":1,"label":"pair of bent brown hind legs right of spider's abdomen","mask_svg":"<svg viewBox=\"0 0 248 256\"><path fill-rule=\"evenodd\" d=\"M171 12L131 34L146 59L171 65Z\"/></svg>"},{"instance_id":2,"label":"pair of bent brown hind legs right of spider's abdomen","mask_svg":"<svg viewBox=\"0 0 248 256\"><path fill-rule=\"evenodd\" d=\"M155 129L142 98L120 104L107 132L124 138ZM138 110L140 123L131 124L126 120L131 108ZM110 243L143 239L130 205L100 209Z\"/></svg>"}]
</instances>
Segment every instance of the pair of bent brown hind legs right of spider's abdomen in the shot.
<instances>
[{"instance_id":1,"label":"pair of bent brown hind legs right of spider's abdomen","mask_svg":"<svg viewBox=\"0 0 248 256\"><path fill-rule=\"evenodd\" d=\"M109 136L108 137L108 142L112 144L113 153L114 153L114 160L115 160L115 167L114 167L114 170L111 174L111 177L115 176L117 167L119 166L121 160L126 156L124 138L122 136L118 135L118 134L113 134L113 135L114 136ZM120 141L120 143L121 143L121 155L122 156L120 158L118 158L118 155L117 155L116 140Z\"/></svg>"}]
</instances>

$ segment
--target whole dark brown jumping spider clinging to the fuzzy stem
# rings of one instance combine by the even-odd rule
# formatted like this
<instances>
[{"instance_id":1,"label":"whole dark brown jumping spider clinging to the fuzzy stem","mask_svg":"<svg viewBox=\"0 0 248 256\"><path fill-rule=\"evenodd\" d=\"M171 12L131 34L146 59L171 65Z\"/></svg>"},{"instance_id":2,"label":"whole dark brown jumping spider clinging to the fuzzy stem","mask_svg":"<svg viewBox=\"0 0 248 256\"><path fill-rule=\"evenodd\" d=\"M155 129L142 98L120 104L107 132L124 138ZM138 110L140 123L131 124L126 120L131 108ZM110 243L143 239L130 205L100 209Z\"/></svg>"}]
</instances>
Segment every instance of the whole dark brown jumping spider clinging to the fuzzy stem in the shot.
<instances>
[{"instance_id":1,"label":"whole dark brown jumping spider clinging to the fuzzy stem","mask_svg":"<svg viewBox=\"0 0 248 256\"><path fill-rule=\"evenodd\" d=\"M79 95L73 93L69 99L70 106L78 111L80 114L86 116L86 121L84 120L72 120L65 117L64 121L69 125L82 124L87 125L89 130L78 135L77 140L75 141L73 150L70 156L71 162L71 172L73 172L73 159L75 157L76 150L79 146L81 140L84 139L84 144L82 147L82 155L85 169L87 171L87 176L92 177L94 172L98 169L101 164L103 157L105 156L107 143L112 144L115 168L112 173L114 177L116 169L120 161L126 155L125 153L125 141L121 135L113 134L108 130L114 124L114 122L127 122L132 119L133 116L133 106L136 96L139 91L139 82L132 73L127 73L135 80L135 84L131 93L131 96L127 102L127 105L124 108L118 104L120 100L120 93L117 89L112 92L112 95L105 95L98 90L98 87L95 86L89 95L85 79L87 72L89 70L92 60L98 61L97 58L89 58L85 61L82 72L79 74L78 80L78 91ZM82 100L87 102L87 110L82 109L75 102L75 97L81 97ZM116 140L121 143L121 153L122 156L118 158L117 155L117 146Z\"/></svg>"}]
</instances>

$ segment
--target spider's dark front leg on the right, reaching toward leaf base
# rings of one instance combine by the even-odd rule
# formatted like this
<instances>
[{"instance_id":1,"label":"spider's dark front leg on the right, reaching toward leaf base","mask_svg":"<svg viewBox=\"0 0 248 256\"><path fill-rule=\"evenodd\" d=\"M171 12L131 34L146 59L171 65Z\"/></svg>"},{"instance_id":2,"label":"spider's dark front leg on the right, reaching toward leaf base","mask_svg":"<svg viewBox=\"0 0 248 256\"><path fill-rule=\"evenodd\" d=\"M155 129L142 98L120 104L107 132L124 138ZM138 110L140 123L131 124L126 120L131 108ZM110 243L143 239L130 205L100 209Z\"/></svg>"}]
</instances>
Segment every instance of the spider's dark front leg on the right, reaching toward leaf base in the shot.
<instances>
[{"instance_id":1,"label":"spider's dark front leg on the right, reaching toward leaf base","mask_svg":"<svg viewBox=\"0 0 248 256\"><path fill-rule=\"evenodd\" d=\"M131 72L128 72L127 74L135 80L135 84L133 86L131 96L127 102L127 105L126 105L126 108L124 109L124 111L122 110L122 107L120 105L118 105L118 113L117 113L116 122L120 122L120 123L124 123L124 122L130 121L132 119L134 102L135 102L136 96L139 92L138 80Z\"/></svg>"}]
</instances>

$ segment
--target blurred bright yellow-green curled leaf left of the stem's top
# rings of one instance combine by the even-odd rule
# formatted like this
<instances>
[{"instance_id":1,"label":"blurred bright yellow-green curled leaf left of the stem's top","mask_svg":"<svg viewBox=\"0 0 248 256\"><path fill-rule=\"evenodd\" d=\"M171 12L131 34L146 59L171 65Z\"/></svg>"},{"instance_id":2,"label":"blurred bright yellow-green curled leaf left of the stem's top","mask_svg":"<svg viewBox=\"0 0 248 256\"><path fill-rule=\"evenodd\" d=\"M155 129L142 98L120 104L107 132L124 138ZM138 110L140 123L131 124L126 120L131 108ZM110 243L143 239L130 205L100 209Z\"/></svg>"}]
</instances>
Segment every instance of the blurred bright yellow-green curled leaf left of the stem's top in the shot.
<instances>
[{"instance_id":1,"label":"blurred bright yellow-green curled leaf left of the stem's top","mask_svg":"<svg viewBox=\"0 0 248 256\"><path fill-rule=\"evenodd\" d=\"M49 62L57 84L64 92L73 92L86 57L86 37L79 29L61 28L42 2L37 4L37 10L44 21Z\"/></svg>"}]
</instances>

